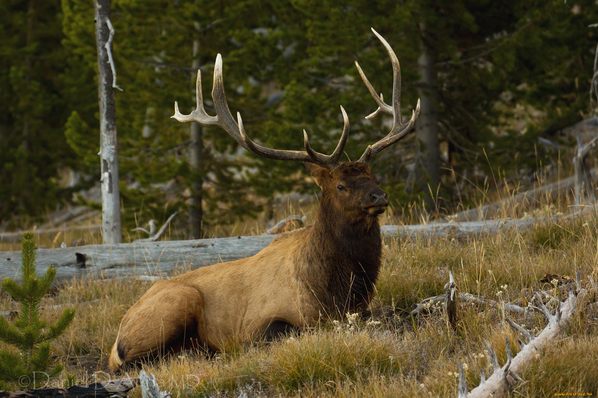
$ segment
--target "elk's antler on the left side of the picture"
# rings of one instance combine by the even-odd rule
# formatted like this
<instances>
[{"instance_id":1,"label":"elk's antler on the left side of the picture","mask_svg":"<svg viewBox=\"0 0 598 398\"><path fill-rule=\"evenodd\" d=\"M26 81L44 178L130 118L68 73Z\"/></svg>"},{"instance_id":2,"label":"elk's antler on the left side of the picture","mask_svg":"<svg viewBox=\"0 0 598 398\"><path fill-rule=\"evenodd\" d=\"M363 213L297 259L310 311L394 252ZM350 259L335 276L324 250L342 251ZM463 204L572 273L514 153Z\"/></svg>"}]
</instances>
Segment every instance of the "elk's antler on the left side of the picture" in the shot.
<instances>
[{"instance_id":1,"label":"elk's antler on the left side of the picture","mask_svg":"<svg viewBox=\"0 0 598 398\"><path fill-rule=\"evenodd\" d=\"M222 57L220 54L216 57L216 65L214 67L214 86L212 89L212 98L214 100L214 107L216 108L216 116L209 116L203 107L203 96L202 96L202 72L197 71L197 109L190 113L190 115L182 115L179 112L178 103L175 101L175 115L172 118L179 122L197 122L205 126L218 126L234 138L240 146L245 148L255 155L263 156L264 158L277 159L280 161L300 161L315 163L316 165L327 168L332 171L340 165L340 156L343 154L344 144L347 142L347 135L349 135L349 118L347 113L344 112L343 107L340 107L343 113L344 128L343 134L338 141L338 145L332 155L322 155L322 153L315 152L309 146L309 140L307 139L307 132L303 130L303 140L305 144L305 150L277 150L270 149L260 146L252 141L243 128L243 121L241 120L241 114L237 112L237 121L234 122L233 115L231 115L228 109L226 97L224 96L224 85L222 83Z\"/></svg>"}]
</instances>

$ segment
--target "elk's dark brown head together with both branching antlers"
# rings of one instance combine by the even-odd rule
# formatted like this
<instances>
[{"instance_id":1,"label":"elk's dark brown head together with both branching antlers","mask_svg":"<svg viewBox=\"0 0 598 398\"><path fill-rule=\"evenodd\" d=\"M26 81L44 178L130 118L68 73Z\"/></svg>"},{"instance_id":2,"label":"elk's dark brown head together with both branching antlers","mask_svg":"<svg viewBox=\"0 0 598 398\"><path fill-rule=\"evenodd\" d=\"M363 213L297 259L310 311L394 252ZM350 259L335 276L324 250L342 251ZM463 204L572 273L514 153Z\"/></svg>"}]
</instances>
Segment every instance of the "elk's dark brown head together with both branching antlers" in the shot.
<instances>
[{"instance_id":1,"label":"elk's dark brown head together with both branching antlers","mask_svg":"<svg viewBox=\"0 0 598 398\"><path fill-rule=\"evenodd\" d=\"M323 155L322 153L315 152L309 145L305 130L303 130L305 151L270 149L254 143L245 134L240 113L237 112L237 122L235 122L233 115L231 115L228 109L222 84L222 57L220 54L216 57L212 89L216 116L209 116L203 107L202 74L198 70L197 109L191 112L190 115L182 115L179 112L178 104L175 102L175 115L172 118L175 118L179 122L197 122L202 125L221 127L240 146L264 158L304 162L318 186L322 188L322 200L326 200L327 205L334 206L338 210L337 214L343 214L343 217L347 221L350 221L350 223L356 223L368 217L376 217L382 214L386 206L388 206L388 195L378 186L378 178L371 174L370 162L377 153L401 140L401 138L405 137L411 131L419 115L420 102L418 99L417 107L413 110L411 119L403 124L401 115L401 66L399 65L399 60L396 58L388 42L376 30L372 29L372 32L380 39L390 55L393 69L392 105L386 104L382 94L378 95L376 93L370 81L365 77L361 67L355 61L359 75L361 75L374 101L378 104L376 112L366 116L366 119L373 119L380 115L380 113L389 113L393 116L393 127L386 137L368 146L364 154L356 162L340 162L340 156L343 153L344 145L347 142L347 135L349 134L349 119L342 106L340 109L344 120L343 134L331 155Z\"/></svg>"}]
</instances>

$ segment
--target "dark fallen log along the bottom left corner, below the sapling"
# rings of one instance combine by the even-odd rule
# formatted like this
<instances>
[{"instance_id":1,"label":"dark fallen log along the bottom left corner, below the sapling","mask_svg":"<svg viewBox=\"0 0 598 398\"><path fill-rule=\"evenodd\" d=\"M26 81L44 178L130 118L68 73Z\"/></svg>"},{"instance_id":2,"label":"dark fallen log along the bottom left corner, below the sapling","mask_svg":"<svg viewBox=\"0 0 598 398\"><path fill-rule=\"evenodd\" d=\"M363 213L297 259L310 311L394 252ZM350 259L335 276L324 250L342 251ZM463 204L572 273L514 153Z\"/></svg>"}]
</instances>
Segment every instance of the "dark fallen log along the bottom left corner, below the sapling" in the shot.
<instances>
[{"instance_id":1,"label":"dark fallen log along the bottom left corner, below the sapling","mask_svg":"<svg viewBox=\"0 0 598 398\"><path fill-rule=\"evenodd\" d=\"M0 391L0 398L125 398L127 391L139 384L139 378L100 381L65 388L35 388L31 390Z\"/></svg>"}]
</instances>

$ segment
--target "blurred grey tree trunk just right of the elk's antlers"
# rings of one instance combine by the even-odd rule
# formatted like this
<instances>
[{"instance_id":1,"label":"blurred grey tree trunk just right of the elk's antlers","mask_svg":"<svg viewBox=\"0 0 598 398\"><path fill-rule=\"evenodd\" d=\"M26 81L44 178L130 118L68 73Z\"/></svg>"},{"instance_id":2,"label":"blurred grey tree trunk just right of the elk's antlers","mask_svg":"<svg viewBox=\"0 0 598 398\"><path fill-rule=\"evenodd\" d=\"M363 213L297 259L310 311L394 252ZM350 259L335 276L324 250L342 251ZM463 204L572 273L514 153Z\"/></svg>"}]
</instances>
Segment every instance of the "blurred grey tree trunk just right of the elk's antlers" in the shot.
<instances>
[{"instance_id":1,"label":"blurred grey tree trunk just right of the elk's antlers","mask_svg":"<svg viewBox=\"0 0 598 398\"><path fill-rule=\"evenodd\" d=\"M434 72L434 54L426 46L425 23L420 24L422 33L422 54L417 60L417 67L422 78L417 91L421 100L421 112L416 122L416 138L419 144L417 156L417 180L422 183L422 190L428 195L434 194L440 183L440 155L438 150L438 87ZM429 184L429 187L428 187ZM434 201L430 196L426 200L430 205Z\"/></svg>"}]
</instances>

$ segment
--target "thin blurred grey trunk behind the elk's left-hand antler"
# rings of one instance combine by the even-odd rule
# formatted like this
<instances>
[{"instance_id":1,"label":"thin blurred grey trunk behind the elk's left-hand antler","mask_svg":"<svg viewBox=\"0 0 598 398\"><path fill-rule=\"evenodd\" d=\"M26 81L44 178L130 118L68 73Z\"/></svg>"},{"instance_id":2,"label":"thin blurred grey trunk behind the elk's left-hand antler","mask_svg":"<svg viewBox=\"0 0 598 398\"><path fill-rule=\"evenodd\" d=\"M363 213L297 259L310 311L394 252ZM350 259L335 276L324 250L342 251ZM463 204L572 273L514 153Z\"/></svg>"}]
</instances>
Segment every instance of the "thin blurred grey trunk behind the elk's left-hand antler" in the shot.
<instances>
[{"instance_id":1,"label":"thin blurred grey trunk behind the elk's left-hand antler","mask_svg":"<svg viewBox=\"0 0 598 398\"><path fill-rule=\"evenodd\" d=\"M195 23L197 30L199 23ZM198 33L199 34L199 33ZM193 41L193 63L191 67L199 69L199 38ZM195 86L195 79L193 78ZM189 144L188 162L191 168L191 196L189 198L189 230L191 239L202 239L202 189L203 189L203 127L191 122L191 144Z\"/></svg>"}]
</instances>

